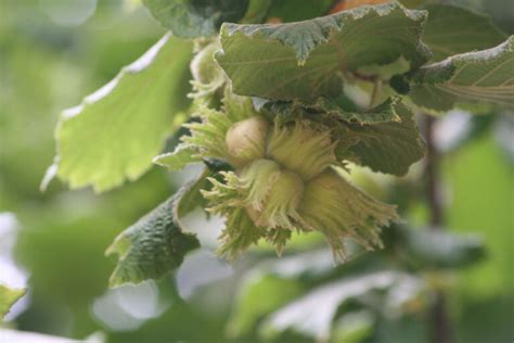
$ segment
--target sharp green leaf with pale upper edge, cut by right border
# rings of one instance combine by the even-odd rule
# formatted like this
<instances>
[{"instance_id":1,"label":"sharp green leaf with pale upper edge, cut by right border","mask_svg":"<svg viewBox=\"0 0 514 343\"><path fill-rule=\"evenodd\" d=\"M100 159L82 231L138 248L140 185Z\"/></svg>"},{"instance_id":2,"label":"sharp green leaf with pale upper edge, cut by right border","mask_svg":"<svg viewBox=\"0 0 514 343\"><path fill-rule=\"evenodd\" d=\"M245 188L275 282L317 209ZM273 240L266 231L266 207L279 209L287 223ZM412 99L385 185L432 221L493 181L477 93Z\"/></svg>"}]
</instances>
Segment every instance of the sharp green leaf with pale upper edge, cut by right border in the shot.
<instances>
[{"instance_id":1,"label":"sharp green leaf with pale upper edge, cut by right border","mask_svg":"<svg viewBox=\"0 0 514 343\"><path fill-rule=\"evenodd\" d=\"M411 100L429 112L458 105L514 107L514 36L500 46L458 54L420 68L412 78Z\"/></svg>"}]
</instances>

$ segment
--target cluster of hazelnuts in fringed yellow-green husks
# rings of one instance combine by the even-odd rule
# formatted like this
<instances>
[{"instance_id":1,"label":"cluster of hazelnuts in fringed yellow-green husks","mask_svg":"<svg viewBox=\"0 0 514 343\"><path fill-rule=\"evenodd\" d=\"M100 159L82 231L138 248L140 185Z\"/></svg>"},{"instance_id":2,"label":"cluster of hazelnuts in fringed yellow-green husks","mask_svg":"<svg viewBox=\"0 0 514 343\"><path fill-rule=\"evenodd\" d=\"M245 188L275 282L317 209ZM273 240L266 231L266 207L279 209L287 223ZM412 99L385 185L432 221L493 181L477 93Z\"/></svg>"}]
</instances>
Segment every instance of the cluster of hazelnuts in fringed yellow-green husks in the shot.
<instances>
[{"instance_id":1,"label":"cluster of hazelnuts in fringed yellow-green husks","mask_svg":"<svg viewBox=\"0 0 514 343\"><path fill-rule=\"evenodd\" d=\"M213 188L203 191L208 211L227 218L220 254L235 258L260 239L281 254L294 230L317 230L342 262L347 239L368 250L382 247L380 227L399 220L395 206L364 194L334 169L340 163L330 129L305 119L279 125L250 116L223 131L218 140L224 138L226 151L218 157L235 172L210 178Z\"/></svg>"}]
</instances>

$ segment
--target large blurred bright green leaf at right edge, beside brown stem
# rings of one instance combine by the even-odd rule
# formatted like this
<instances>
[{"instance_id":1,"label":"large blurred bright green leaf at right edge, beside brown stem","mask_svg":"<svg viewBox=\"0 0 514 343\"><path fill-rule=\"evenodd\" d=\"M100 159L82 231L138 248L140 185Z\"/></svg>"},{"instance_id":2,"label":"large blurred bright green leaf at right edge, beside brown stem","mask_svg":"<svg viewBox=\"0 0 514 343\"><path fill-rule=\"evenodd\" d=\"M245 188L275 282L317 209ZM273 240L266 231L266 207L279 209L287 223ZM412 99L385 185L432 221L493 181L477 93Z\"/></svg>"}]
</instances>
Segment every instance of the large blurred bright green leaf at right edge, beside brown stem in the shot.
<instances>
[{"instance_id":1,"label":"large blurred bright green leaf at right edge, beside brown stem","mask_svg":"<svg viewBox=\"0 0 514 343\"><path fill-rule=\"evenodd\" d=\"M462 272L460 294L475 300L512 296L512 165L493 137L487 135L449 155L444 170L452 199L447 211L448 227L465 229L463 233L478 232L487 247L487 259ZM504 320L510 327L512 320Z\"/></svg>"}]
</instances>

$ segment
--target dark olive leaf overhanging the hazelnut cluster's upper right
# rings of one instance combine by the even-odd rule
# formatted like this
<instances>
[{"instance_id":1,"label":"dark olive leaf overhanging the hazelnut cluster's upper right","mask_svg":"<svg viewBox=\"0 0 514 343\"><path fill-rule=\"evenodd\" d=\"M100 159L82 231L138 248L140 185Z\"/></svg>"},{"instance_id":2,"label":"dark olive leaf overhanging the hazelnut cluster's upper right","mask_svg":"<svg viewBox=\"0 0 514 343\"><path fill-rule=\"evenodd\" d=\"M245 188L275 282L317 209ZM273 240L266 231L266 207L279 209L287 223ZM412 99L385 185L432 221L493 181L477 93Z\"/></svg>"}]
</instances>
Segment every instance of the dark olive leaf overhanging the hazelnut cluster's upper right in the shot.
<instances>
[{"instance_id":1,"label":"dark olive leaf overhanging the hazelnut cluster's upper right","mask_svg":"<svg viewBox=\"0 0 514 343\"><path fill-rule=\"evenodd\" d=\"M400 98L359 112L324 98L310 105L296 101L267 105L267 109L285 122L307 115L310 120L333 127L338 140L337 158L375 172L404 175L425 153L413 113Z\"/></svg>"}]
</instances>

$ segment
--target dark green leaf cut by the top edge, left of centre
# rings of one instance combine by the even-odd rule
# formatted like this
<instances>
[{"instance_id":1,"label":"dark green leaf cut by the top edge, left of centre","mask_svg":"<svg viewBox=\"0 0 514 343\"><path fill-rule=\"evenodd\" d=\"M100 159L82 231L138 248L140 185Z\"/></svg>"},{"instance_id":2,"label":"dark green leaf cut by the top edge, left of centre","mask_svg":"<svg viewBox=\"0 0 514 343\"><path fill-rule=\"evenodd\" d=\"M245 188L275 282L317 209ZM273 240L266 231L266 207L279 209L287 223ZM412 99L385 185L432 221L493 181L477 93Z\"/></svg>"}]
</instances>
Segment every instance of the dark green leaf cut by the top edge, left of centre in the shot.
<instances>
[{"instance_id":1,"label":"dark green leaf cut by the top edge, left of centre","mask_svg":"<svg viewBox=\"0 0 514 343\"><path fill-rule=\"evenodd\" d=\"M175 36L216 36L223 22L240 21L248 0L143 0L152 15Z\"/></svg>"}]
</instances>

